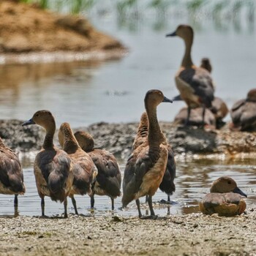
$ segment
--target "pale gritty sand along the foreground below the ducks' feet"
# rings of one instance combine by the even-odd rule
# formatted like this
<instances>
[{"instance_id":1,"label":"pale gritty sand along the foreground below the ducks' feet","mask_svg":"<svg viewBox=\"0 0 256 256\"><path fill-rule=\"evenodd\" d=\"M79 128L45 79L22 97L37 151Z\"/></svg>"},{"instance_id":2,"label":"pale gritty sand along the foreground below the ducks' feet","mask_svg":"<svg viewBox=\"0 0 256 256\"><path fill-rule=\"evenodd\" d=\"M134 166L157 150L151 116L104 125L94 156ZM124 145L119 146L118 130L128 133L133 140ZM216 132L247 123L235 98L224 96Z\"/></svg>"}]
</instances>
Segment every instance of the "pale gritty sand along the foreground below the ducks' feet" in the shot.
<instances>
[{"instance_id":1,"label":"pale gritty sand along the foreground below the ducks' feet","mask_svg":"<svg viewBox=\"0 0 256 256\"><path fill-rule=\"evenodd\" d=\"M239 217L0 218L0 255L256 255L256 211Z\"/></svg>"}]
</instances>

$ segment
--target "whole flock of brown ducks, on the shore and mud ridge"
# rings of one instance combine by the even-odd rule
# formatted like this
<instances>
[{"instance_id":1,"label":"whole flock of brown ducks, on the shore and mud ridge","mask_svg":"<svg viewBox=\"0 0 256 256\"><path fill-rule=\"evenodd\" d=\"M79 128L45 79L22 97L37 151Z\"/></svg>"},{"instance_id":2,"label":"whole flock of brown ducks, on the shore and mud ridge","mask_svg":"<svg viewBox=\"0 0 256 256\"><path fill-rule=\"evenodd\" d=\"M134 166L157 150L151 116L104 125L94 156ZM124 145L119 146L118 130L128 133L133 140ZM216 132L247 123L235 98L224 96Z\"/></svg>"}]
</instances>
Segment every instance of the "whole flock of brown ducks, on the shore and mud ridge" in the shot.
<instances>
[{"instance_id":1,"label":"whole flock of brown ducks, on the shore and mud ridge","mask_svg":"<svg viewBox=\"0 0 256 256\"><path fill-rule=\"evenodd\" d=\"M140 211L140 197L146 196L149 217L155 218L152 197L157 189L167 194L168 202L176 189L176 162L172 148L159 127L157 106L162 102L184 100L188 106L185 125L189 124L192 111L198 107L201 108L200 124L204 124L208 110L214 113L216 120L221 119L219 116L222 113L219 105L214 105L216 98L210 74L211 64L208 59L203 59L201 67L196 67L192 62L192 28L180 25L167 36L181 37L186 46L181 68L176 75L176 86L180 95L167 99L162 91L147 91L144 99L146 112L140 118L132 154L127 159L122 180L122 207L125 208L135 200L140 218L145 218ZM217 102L222 100L218 99ZM250 116L249 113L256 108L255 102L256 89L249 91L247 99L234 105L231 112L233 129L252 129L256 111L253 113L255 116ZM89 133L74 134L67 122L61 124L59 129L61 148L54 146L56 123L48 110L37 111L23 126L32 124L37 124L46 131L42 149L34 160L34 176L41 198L42 216L45 216L45 196L64 203L64 217L67 217L67 197L71 197L75 214L78 214L75 195L88 194L91 197L91 208L94 208L94 195L108 195L114 209L114 199L121 196L121 172L113 154L94 148L94 139ZM0 138L0 193L15 195L15 206L18 206L18 195L23 195L25 190L18 156ZM236 181L224 176L214 181L210 193L200 202L200 211L204 214L218 213L225 216L241 214L246 208L244 197L246 194L238 189Z\"/></svg>"}]
</instances>

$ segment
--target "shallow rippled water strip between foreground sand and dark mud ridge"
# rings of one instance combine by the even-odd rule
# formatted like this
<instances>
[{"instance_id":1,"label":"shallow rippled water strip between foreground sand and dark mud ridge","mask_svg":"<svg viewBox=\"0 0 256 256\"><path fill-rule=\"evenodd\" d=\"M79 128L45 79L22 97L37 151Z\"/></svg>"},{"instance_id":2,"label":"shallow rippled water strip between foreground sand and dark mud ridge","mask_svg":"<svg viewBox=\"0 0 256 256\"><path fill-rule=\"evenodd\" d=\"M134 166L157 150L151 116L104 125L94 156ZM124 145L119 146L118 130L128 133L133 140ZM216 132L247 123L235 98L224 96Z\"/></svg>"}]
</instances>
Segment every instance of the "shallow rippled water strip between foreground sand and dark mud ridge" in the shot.
<instances>
[{"instance_id":1,"label":"shallow rippled water strip between foreground sand and dark mud ridge","mask_svg":"<svg viewBox=\"0 0 256 256\"><path fill-rule=\"evenodd\" d=\"M124 172L124 163L119 162L121 171ZM28 162L26 162L28 166ZM166 195L160 190L153 197L156 214L161 217L170 214L190 214L199 212L198 203L209 192L211 183L220 176L230 176L237 182L238 187L244 191L247 209L254 206L256 200L256 180L255 169L256 160L244 161L214 161L214 160L192 160L191 162L177 162L176 192L171 196L171 203L162 203ZM24 180L26 184L26 194L19 196L18 211L15 214L40 216L40 198L34 180L34 173L30 166L24 168ZM107 196L97 196L95 209L90 209L90 197L77 196L78 211L86 216L102 216L118 214L122 216L138 216L135 201L129 203L127 209L121 209L121 197L115 200L115 210L110 211L110 198ZM148 215L148 203L145 197L140 198L141 210L144 215ZM46 215L56 216L63 213L61 203L56 203L45 197ZM68 200L69 214L74 214L72 202ZM13 210L13 196L0 195L0 216L16 216Z\"/></svg>"}]
</instances>

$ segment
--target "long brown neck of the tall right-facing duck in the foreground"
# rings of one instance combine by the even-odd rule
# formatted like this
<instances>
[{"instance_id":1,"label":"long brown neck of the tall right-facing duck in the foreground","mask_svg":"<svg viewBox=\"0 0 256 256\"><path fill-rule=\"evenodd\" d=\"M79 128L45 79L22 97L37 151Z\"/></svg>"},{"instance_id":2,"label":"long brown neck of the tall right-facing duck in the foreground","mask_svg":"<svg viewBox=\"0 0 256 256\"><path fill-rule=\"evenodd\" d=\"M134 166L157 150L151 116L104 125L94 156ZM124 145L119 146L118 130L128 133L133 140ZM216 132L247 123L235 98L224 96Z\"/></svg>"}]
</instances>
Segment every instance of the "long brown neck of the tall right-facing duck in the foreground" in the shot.
<instances>
[{"instance_id":1,"label":"long brown neck of the tall right-facing duck in the foreground","mask_svg":"<svg viewBox=\"0 0 256 256\"><path fill-rule=\"evenodd\" d=\"M148 145L151 150L151 148L159 148L159 145L165 141L165 137L157 121L157 108L146 106L146 112L148 114Z\"/></svg>"}]
</instances>

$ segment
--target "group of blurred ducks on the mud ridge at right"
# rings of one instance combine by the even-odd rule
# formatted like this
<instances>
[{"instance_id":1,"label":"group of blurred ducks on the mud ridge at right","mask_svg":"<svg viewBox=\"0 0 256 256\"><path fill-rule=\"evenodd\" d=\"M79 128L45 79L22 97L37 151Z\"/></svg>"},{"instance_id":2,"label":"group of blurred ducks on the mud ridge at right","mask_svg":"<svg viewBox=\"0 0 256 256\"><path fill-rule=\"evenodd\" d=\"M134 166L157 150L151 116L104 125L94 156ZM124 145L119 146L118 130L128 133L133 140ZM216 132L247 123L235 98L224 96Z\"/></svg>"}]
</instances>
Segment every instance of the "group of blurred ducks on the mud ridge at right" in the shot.
<instances>
[{"instance_id":1,"label":"group of blurred ducks on the mud ridge at right","mask_svg":"<svg viewBox=\"0 0 256 256\"><path fill-rule=\"evenodd\" d=\"M211 78L211 62L204 58L200 67L193 64L191 57L194 31L191 26L180 25L167 37L181 37L185 43L185 53L181 67L176 73L176 86L180 94L173 100L184 100L187 108L176 115L175 120L181 124L221 128L222 121L229 112L225 102L214 97L214 81ZM230 129L240 131L256 130L256 89L248 92L246 99L236 102L230 109L232 123Z\"/></svg>"}]
</instances>

